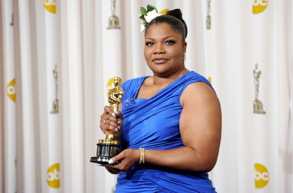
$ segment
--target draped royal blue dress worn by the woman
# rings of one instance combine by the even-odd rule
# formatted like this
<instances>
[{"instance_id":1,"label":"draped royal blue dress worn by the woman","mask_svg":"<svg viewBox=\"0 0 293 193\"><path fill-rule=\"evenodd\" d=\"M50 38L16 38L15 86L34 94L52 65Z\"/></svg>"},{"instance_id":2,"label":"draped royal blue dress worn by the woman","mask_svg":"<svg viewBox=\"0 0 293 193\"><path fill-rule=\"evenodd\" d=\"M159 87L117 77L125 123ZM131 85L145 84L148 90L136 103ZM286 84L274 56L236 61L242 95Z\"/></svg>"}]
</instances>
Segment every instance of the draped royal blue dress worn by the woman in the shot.
<instances>
[{"instance_id":1,"label":"draped royal blue dress worn by the woman","mask_svg":"<svg viewBox=\"0 0 293 193\"><path fill-rule=\"evenodd\" d=\"M200 74L189 71L149 99L135 99L144 76L121 84L123 142L131 149L175 149L184 147L179 118L180 96L191 83L209 83ZM212 87L212 86L211 86ZM176 172L147 164L136 164L127 173L119 173L116 193L120 192L215 192L206 172Z\"/></svg>"}]
</instances>

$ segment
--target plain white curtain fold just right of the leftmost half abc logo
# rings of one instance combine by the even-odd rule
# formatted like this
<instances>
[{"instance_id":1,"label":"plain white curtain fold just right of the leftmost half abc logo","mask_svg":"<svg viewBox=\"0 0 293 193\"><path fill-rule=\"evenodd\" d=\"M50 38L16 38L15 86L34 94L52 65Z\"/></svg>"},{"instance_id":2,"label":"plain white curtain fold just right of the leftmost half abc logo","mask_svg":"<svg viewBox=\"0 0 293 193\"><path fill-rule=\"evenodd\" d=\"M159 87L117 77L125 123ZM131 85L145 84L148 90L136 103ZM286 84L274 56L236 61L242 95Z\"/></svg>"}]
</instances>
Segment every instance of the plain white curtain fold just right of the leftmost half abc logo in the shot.
<instances>
[{"instance_id":1,"label":"plain white curtain fold just right of the leftmost half abc logo","mask_svg":"<svg viewBox=\"0 0 293 193\"><path fill-rule=\"evenodd\" d=\"M36 192L29 1L18 1L23 124L23 192Z\"/></svg>"}]
</instances>

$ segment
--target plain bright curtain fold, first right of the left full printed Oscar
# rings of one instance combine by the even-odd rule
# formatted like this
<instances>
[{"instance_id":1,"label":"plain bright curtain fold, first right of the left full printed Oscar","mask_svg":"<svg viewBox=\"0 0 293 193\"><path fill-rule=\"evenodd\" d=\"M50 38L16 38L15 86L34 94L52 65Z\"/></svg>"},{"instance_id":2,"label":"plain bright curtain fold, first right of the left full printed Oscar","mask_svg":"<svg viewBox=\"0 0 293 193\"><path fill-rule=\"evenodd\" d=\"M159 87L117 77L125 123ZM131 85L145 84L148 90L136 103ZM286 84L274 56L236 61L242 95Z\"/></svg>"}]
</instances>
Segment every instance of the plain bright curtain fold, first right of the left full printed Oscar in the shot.
<instances>
[{"instance_id":1,"label":"plain bright curtain fold, first right of the left full printed Oscar","mask_svg":"<svg viewBox=\"0 0 293 193\"><path fill-rule=\"evenodd\" d=\"M84 97L81 2L67 1L71 192L84 192ZM65 94L65 93L64 93ZM68 137L69 137L68 136ZM67 160L67 159L66 159Z\"/></svg>"}]
</instances>

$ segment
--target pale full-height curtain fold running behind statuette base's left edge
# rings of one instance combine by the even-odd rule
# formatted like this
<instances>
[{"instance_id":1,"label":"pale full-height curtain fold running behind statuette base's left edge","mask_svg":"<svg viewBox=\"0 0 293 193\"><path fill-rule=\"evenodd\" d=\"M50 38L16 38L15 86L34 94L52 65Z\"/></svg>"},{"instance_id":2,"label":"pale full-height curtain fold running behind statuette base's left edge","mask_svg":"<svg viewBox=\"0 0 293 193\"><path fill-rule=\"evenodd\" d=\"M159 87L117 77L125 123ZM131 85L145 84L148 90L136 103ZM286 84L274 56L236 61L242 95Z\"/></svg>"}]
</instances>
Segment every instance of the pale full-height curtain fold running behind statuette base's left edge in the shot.
<instances>
[{"instance_id":1,"label":"pale full-height curtain fold running behind statuette base's left edge","mask_svg":"<svg viewBox=\"0 0 293 193\"><path fill-rule=\"evenodd\" d=\"M89 163L90 157L95 155L95 108L92 102L95 101L95 1L82 1L82 28L87 29L82 33L83 44L83 72L84 72L84 129L85 129L85 192L95 191L95 178L93 177L96 164Z\"/></svg>"}]
</instances>

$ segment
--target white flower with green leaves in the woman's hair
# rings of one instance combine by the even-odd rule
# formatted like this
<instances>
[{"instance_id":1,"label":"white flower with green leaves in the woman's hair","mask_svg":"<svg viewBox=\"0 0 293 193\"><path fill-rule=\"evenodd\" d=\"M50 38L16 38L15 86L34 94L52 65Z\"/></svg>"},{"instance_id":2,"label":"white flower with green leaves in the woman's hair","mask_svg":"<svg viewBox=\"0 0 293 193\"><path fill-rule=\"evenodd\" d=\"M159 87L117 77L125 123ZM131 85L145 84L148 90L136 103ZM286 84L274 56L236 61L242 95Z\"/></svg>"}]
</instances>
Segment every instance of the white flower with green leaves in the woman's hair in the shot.
<instances>
[{"instance_id":1,"label":"white flower with green leaves in the woman's hair","mask_svg":"<svg viewBox=\"0 0 293 193\"><path fill-rule=\"evenodd\" d=\"M142 22L142 24L140 24L140 31L144 31L147 28L149 22L151 22L155 17L162 15L159 14L158 10L152 5L147 5L147 10L144 7L141 7L140 12L141 15L139 18Z\"/></svg>"}]
</instances>

